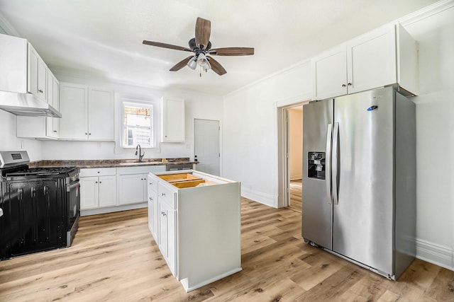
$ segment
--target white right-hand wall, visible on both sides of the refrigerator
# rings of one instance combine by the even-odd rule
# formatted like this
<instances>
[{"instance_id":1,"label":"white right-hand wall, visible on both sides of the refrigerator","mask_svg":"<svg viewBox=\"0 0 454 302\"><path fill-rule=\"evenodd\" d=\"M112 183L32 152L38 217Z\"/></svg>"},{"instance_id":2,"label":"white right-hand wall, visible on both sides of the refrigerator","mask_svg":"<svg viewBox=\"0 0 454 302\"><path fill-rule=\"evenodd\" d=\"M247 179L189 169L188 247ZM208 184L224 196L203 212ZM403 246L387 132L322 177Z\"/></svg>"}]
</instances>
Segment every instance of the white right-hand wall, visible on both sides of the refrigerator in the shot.
<instances>
[{"instance_id":1,"label":"white right-hand wall, visible on both sides of the refrigerator","mask_svg":"<svg viewBox=\"0 0 454 302\"><path fill-rule=\"evenodd\" d=\"M417 256L454 269L454 1L440 4L402 21L419 41ZM309 73L294 66L224 98L223 176L245 197L277 207L275 107L310 95Z\"/></svg>"}]
</instances>

